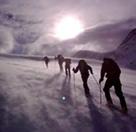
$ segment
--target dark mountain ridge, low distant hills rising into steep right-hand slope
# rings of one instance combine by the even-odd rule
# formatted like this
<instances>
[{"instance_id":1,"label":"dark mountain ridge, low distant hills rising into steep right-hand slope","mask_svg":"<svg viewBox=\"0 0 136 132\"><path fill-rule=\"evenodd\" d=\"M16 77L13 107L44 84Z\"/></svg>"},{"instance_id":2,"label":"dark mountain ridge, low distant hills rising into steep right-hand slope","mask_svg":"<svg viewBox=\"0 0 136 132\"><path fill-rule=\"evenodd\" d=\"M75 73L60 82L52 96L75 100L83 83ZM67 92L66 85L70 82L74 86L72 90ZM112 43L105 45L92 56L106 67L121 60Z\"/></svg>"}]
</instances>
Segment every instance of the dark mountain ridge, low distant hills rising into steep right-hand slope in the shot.
<instances>
[{"instance_id":1,"label":"dark mountain ridge, low distant hills rising into steep right-hand slope","mask_svg":"<svg viewBox=\"0 0 136 132\"><path fill-rule=\"evenodd\" d=\"M94 58L102 60L104 57L110 57L118 61L124 67L136 69L136 28L131 30L122 43L113 51L99 53L88 50L80 50L74 54L74 57Z\"/></svg>"}]
</instances>

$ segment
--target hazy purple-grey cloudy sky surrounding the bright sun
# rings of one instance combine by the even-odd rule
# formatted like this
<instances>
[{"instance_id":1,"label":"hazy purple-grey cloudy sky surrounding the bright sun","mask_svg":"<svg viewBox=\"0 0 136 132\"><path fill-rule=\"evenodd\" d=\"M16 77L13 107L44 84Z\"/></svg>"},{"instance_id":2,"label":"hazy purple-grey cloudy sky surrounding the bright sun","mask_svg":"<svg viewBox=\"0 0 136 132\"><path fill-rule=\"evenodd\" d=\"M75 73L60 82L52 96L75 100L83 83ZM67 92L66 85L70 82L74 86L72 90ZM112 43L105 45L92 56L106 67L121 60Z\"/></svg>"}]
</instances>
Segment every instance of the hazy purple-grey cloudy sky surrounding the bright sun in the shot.
<instances>
[{"instance_id":1,"label":"hazy purple-grey cloudy sky surrounding the bright sun","mask_svg":"<svg viewBox=\"0 0 136 132\"><path fill-rule=\"evenodd\" d=\"M136 27L135 7L136 0L0 0L0 52L110 51ZM85 32L60 41L54 25L67 15L77 17Z\"/></svg>"}]
</instances>

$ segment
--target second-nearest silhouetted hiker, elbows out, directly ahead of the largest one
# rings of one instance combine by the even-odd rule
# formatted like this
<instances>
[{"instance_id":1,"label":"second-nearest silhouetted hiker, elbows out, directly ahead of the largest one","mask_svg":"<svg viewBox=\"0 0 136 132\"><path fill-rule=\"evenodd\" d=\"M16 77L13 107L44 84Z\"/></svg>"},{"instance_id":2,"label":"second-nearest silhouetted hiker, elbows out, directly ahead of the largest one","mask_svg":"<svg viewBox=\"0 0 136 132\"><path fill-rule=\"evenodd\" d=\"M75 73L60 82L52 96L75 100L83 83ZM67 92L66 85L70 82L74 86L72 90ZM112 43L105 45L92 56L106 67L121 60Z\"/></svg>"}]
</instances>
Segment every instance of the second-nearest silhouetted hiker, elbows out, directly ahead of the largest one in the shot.
<instances>
[{"instance_id":1,"label":"second-nearest silhouetted hiker, elbows out, directly ahead of the largest one","mask_svg":"<svg viewBox=\"0 0 136 132\"><path fill-rule=\"evenodd\" d=\"M85 90L85 95L86 97L90 96L90 91L89 91L89 87L87 84L87 80L89 77L89 71L91 74L93 74L92 68L91 66L89 66L85 60L80 60L78 63L78 66L76 68L73 68L74 73L77 73L78 71L80 71L81 73L81 78L83 81L83 87Z\"/></svg>"}]
</instances>

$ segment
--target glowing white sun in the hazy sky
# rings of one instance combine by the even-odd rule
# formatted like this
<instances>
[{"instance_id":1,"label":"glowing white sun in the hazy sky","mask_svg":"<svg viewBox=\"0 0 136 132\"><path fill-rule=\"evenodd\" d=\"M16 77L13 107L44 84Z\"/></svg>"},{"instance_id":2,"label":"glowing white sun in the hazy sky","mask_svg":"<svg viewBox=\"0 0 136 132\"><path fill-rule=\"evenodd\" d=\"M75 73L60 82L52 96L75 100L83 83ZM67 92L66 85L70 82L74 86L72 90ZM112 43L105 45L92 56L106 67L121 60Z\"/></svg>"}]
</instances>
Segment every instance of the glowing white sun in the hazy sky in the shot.
<instances>
[{"instance_id":1,"label":"glowing white sun in the hazy sky","mask_svg":"<svg viewBox=\"0 0 136 132\"><path fill-rule=\"evenodd\" d=\"M75 38L83 32L83 24L79 19L72 16L63 17L55 25L55 37L60 40Z\"/></svg>"}]
</instances>

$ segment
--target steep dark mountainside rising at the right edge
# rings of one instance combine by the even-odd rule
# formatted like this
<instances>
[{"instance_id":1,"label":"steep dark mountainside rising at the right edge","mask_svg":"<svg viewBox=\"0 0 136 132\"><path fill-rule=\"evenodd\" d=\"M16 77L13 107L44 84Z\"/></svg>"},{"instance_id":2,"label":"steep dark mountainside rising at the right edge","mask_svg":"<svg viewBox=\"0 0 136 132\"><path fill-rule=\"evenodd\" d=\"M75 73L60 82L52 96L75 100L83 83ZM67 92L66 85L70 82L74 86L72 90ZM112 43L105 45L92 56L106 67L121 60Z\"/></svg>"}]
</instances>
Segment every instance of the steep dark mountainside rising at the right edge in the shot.
<instances>
[{"instance_id":1,"label":"steep dark mountainside rising at the right edge","mask_svg":"<svg viewBox=\"0 0 136 132\"><path fill-rule=\"evenodd\" d=\"M127 67L136 69L136 29L129 32L115 51L116 58Z\"/></svg>"}]
</instances>

